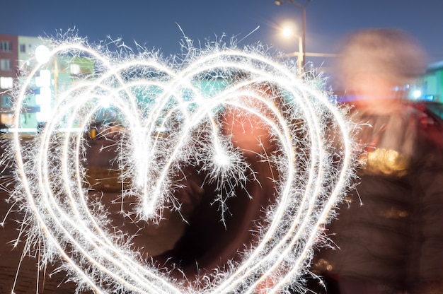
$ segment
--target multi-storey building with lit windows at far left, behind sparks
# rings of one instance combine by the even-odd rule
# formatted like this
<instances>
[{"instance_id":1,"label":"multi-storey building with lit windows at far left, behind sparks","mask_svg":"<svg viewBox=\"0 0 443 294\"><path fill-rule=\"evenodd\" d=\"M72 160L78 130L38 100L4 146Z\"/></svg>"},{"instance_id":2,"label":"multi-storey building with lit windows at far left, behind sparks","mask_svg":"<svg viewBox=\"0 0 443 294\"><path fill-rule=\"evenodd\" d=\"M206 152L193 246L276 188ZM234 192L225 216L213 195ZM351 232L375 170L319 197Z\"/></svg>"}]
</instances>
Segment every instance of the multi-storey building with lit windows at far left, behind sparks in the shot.
<instances>
[{"instance_id":1,"label":"multi-storey building with lit windows at far left, behind sparks","mask_svg":"<svg viewBox=\"0 0 443 294\"><path fill-rule=\"evenodd\" d=\"M13 124L13 95L11 90L23 83L23 78L38 62L35 50L47 46L50 40L40 37L0 35L0 129ZM33 77L23 101L18 131L38 131L50 118L57 94L68 88L76 78L93 76L94 64L86 57L52 57ZM25 73L25 74L24 74Z\"/></svg>"}]
</instances>

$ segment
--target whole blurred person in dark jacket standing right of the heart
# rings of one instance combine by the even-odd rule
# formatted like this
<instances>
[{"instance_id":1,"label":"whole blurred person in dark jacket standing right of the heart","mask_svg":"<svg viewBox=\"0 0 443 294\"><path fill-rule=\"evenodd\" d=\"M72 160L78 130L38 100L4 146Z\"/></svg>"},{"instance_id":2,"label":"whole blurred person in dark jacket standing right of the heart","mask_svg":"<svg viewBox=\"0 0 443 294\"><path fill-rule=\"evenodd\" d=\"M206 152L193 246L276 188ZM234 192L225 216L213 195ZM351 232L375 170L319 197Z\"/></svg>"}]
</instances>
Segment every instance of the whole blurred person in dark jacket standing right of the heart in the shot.
<instances>
[{"instance_id":1,"label":"whole blurred person in dark jacket standing right of the heart","mask_svg":"<svg viewBox=\"0 0 443 294\"><path fill-rule=\"evenodd\" d=\"M440 148L423 114L396 90L425 64L420 46L400 30L359 31L340 51L337 73L360 124L362 156L357 185L328 225L335 249L321 248L313 261L326 293L443 293Z\"/></svg>"}]
</instances>

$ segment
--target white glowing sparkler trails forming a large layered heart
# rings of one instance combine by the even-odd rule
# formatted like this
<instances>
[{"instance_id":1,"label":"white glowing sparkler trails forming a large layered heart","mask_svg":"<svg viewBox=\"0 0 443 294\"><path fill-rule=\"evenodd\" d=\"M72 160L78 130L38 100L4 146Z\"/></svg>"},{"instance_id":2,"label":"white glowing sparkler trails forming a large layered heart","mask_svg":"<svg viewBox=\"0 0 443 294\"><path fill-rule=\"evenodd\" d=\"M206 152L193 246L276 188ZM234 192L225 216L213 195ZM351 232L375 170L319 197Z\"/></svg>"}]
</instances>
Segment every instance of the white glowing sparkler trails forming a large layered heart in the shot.
<instances>
[{"instance_id":1,"label":"white glowing sparkler trails forming a large layered heart","mask_svg":"<svg viewBox=\"0 0 443 294\"><path fill-rule=\"evenodd\" d=\"M199 293L253 293L271 276L275 282L268 290L276 292L309 271L318 232L353 176L352 124L325 93L298 78L294 66L277 63L259 49L189 52L176 64L146 52L113 57L75 39L50 48L49 60L84 57L93 61L95 72L59 90L52 117L30 146L13 134L20 183L13 195L29 216L27 248L41 240L42 263L62 259L79 288L96 293L197 291L146 263L130 236L109 228L105 206L91 199L84 163L88 141L74 129L87 129L103 105L117 113L125 130L116 143L115 162L126 182L120 199L137 203L125 213L146 221L161 221L166 203L180 210L171 187L183 164L204 167L212 177L208 181L224 192L220 201L234 196L232 180L246 181L249 167L222 134L219 117L228 108L260 117L277 146L274 155L263 159L282 175L276 180L277 204L258 232L258 245ZM15 128L33 80L45 66L35 66L16 90ZM257 85L277 89L284 107Z\"/></svg>"}]
</instances>

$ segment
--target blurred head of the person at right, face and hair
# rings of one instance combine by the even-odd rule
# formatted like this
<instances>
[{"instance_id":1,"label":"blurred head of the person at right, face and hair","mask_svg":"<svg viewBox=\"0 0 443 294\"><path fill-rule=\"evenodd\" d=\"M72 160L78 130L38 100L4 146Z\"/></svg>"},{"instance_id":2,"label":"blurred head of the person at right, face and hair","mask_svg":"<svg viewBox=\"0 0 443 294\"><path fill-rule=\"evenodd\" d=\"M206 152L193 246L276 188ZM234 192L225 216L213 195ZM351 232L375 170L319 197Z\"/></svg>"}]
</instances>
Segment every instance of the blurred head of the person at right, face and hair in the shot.
<instances>
[{"instance_id":1,"label":"blurred head of the person at right, face and hair","mask_svg":"<svg viewBox=\"0 0 443 294\"><path fill-rule=\"evenodd\" d=\"M425 53L402 30L379 28L349 35L340 49L336 71L340 88L362 106L396 102L393 89L425 73ZM369 104L369 105L368 105Z\"/></svg>"}]
</instances>

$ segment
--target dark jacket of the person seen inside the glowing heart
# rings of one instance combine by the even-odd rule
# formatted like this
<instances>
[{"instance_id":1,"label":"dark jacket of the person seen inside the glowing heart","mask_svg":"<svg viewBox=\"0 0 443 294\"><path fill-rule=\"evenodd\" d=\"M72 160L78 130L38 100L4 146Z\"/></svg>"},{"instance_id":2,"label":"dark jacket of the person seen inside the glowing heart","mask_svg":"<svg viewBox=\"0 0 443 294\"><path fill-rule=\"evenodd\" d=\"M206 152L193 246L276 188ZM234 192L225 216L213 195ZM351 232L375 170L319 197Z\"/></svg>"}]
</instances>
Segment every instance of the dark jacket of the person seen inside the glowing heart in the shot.
<instances>
[{"instance_id":1,"label":"dark jacket of the person seen inside the glowing heart","mask_svg":"<svg viewBox=\"0 0 443 294\"><path fill-rule=\"evenodd\" d=\"M258 241L255 233L263 225L266 207L274 201L275 184L269 163L258 157L246 158L246 162L251 167L246 172L248 181L226 179L224 182L228 189L235 189L235 196L225 199L224 208L217 197L226 193L220 190L217 180L209 182L205 172L187 175L188 186L194 182L202 187L200 192L188 193L195 197L189 224L173 249L155 257L160 267L171 271L172 276L183 278L185 274L188 281L193 281L197 275L214 274L215 269L240 261L242 252ZM183 200L183 195L177 197Z\"/></svg>"}]
</instances>

